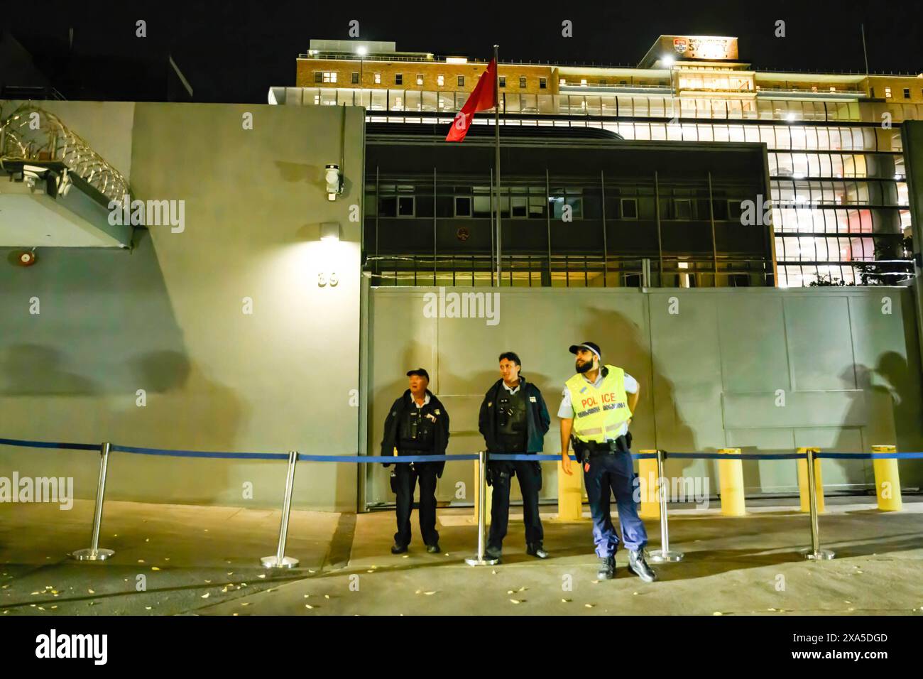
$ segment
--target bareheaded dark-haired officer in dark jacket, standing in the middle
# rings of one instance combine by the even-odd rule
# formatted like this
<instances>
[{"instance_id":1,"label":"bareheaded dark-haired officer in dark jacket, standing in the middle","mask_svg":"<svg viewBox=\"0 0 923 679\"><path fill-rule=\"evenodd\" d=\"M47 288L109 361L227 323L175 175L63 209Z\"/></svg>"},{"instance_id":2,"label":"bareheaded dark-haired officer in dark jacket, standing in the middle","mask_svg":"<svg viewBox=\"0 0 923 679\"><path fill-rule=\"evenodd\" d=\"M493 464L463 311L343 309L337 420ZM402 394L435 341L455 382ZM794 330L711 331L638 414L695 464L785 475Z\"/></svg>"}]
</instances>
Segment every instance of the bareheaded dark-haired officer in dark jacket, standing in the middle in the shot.
<instances>
[{"instance_id":1,"label":"bareheaded dark-haired officer in dark jacket, standing in the middle","mask_svg":"<svg viewBox=\"0 0 923 679\"><path fill-rule=\"evenodd\" d=\"M520 358L511 351L500 354L500 379L487 390L481 403L478 429L488 453L541 453L551 423L545 399L532 382L520 374ZM526 552L546 559L545 534L538 515L538 491L542 490L542 467L538 462L504 460L487 463L487 479L494 488L490 509L490 534L485 554L500 559L509 524L509 485L513 474L522 491Z\"/></svg>"}]
</instances>

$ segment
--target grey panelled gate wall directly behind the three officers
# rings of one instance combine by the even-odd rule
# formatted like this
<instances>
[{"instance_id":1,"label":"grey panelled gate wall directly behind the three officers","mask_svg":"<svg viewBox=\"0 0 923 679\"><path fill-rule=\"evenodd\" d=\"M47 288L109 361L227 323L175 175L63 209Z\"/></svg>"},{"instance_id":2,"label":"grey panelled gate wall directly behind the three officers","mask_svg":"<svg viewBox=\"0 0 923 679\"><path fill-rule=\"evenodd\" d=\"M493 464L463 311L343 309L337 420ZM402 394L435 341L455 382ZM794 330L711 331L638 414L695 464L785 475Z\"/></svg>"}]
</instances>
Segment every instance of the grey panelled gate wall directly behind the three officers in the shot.
<instances>
[{"instance_id":1,"label":"grey panelled gate wall directly behind the three officers","mask_svg":"<svg viewBox=\"0 0 923 679\"><path fill-rule=\"evenodd\" d=\"M483 318L426 318L424 295L438 288L377 288L370 296L369 452L377 450L387 408L406 388L404 373L423 366L450 413L450 453L484 443L477 431L483 394L498 379L497 356L516 351L522 374L545 395L552 430L545 452L559 452L557 407L573 374L568 346L598 343L606 361L641 382L632 424L634 448L673 452L725 446L745 453L820 446L869 452L896 443L921 450L919 354L908 288L509 289L499 293L496 325ZM484 288L446 288L479 292ZM887 298L890 302L882 301ZM891 313L882 313L882 309ZM670 313L675 305L676 313ZM784 390L785 406L776 406ZM557 495L557 470L546 465L545 498ZM750 492L795 491L794 462L747 463ZM923 464L901 463L902 481L923 482ZM710 477L708 460L672 460L671 476ZM471 487L470 462L452 463L438 497L455 501ZM369 503L393 500L386 472L369 469ZM828 489L872 482L869 462L823 463ZM515 484L514 484L515 485ZM467 498L472 501L472 496Z\"/></svg>"}]
</instances>

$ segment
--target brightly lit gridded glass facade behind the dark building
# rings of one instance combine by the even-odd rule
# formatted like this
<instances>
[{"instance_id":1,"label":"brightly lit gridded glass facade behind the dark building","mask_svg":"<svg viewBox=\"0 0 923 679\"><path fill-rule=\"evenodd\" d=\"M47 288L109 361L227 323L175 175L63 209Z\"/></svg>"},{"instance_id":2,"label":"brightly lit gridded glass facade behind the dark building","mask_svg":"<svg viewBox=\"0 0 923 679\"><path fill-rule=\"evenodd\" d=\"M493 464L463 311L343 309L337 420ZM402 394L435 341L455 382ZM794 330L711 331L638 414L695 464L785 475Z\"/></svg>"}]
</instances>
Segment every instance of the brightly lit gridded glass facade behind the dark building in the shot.
<instances>
[{"instance_id":1,"label":"brightly lit gridded glass facade behind the dark building","mask_svg":"<svg viewBox=\"0 0 923 679\"><path fill-rule=\"evenodd\" d=\"M501 111L506 116L501 122L601 127L624 139L765 143L771 196L754 196L753 202L754 208L761 208L772 200L765 217L773 220L779 285L894 283L911 274L910 212L899 124L923 119L923 104L860 102L857 99L864 92L835 88L823 92L822 99L817 95L812 99L808 92L767 96L765 91L735 97L730 92L749 89L748 76L729 71L717 83L700 83L697 78L702 76L680 74L678 83L681 88L707 84L718 91L712 96L674 95L669 87L611 94L501 92ZM606 88L594 88L601 89ZM284 103L364 105L373 122L447 126L469 95L467 91L278 90ZM474 122L489 124L488 118L475 117Z\"/></svg>"}]
</instances>

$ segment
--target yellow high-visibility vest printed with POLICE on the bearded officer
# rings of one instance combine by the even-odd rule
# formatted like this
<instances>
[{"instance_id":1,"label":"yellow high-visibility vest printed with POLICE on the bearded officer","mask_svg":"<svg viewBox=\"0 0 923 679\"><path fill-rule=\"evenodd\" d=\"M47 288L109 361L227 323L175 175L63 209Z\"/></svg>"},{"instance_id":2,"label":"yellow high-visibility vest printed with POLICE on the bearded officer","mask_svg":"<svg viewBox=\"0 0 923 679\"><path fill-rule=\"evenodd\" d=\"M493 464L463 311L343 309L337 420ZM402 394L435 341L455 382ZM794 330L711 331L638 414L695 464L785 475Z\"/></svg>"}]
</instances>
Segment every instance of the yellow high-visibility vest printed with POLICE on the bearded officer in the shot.
<instances>
[{"instance_id":1,"label":"yellow high-visibility vest printed with POLICE on the bearded officer","mask_svg":"<svg viewBox=\"0 0 923 679\"><path fill-rule=\"evenodd\" d=\"M607 438L613 439L631 418L625 370L609 365L605 368L608 372L598 388L580 373L565 382L574 409L573 433L581 441L603 443Z\"/></svg>"}]
</instances>

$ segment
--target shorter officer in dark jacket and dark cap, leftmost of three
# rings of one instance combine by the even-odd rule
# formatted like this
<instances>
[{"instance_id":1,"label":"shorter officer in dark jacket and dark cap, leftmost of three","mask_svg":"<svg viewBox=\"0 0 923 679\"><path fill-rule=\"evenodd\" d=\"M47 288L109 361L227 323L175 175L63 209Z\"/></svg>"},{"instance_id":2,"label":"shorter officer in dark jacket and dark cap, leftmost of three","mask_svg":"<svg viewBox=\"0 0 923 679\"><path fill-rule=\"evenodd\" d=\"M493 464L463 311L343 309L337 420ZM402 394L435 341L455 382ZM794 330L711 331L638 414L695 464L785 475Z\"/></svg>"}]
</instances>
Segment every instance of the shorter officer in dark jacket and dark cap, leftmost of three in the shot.
<instances>
[{"instance_id":1,"label":"shorter officer in dark jacket and dark cap, leftmost of three","mask_svg":"<svg viewBox=\"0 0 923 679\"><path fill-rule=\"evenodd\" d=\"M426 388L429 373L422 368L409 370L410 388L391 406L385 418L381 455L445 455L449 443L449 413ZM392 554L407 551L410 544L410 514L414 487L420 481L420 533L426 552L439 551L436 530L436 479L442 476L443 462L397 462L391 472L391 491L397 495L398 532L394 534ZM386 463L385 467L390 467Z\"/></svg>"}]
</instances>

